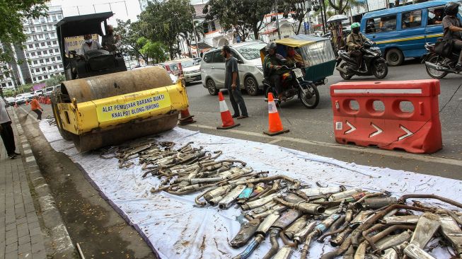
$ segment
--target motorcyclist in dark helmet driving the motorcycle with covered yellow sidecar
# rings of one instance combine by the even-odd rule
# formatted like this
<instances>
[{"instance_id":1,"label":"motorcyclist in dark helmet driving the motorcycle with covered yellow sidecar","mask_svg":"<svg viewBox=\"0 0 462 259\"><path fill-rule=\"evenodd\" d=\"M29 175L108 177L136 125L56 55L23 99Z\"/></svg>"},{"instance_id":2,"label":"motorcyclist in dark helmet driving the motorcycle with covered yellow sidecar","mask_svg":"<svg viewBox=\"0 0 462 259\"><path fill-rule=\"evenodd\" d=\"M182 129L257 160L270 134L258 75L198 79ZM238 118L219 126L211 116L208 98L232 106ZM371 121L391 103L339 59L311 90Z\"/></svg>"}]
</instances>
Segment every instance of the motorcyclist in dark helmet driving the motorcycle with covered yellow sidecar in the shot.
<instances>
[{"instance_id":1,"label":"motorcyclist in dark helmet driving the motorcycle with covered yellow sidecar","mask_svg":"<svg viewBox=\"0 0 462 259\"><path fill-rule=\"evenodd\" d=\"M270 42L266 45L265 50L267 55L263 60L264 69L266 69L267 74L270 77L270 85L275 88L277 93L277 98L282 98L282 84L281 76L287 69L282 69L287 62L287 59L284 59L281 54L276 53L277 45L275 42Z\"/></svg>"}]
</instances>

